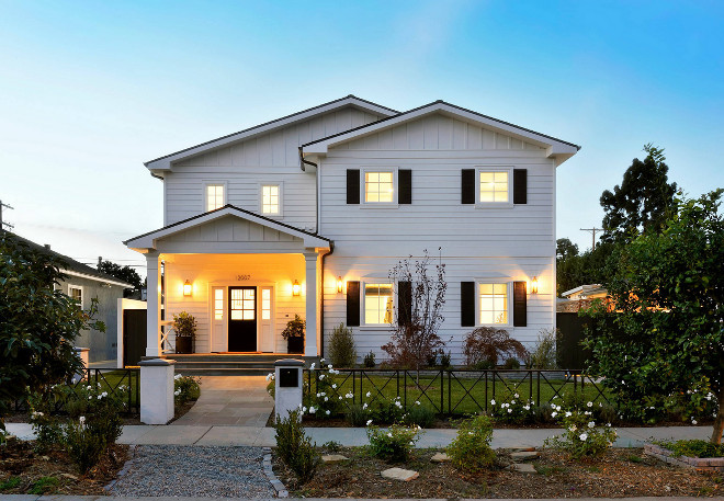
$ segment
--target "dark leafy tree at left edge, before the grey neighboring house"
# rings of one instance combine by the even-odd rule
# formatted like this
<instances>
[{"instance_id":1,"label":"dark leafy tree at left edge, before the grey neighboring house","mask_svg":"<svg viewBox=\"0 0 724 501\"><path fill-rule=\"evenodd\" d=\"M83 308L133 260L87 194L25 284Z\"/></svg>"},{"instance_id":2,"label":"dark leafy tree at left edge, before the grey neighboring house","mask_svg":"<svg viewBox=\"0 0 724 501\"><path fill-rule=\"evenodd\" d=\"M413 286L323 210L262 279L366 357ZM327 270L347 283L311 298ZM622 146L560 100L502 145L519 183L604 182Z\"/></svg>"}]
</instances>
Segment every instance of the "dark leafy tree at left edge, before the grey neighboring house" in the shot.
<instances>
[{"instance_id":1,"label":"dark leafy tree at left edge, before the grey neighboring house","mask_svg":"<svg viewBox=\"0 0 724 501\"><path fill-rule=\"evenodd\" d=\"M54 291L65 263L0 231L0 429L13 401L43 392L81 367L73 340L104 330L91 314Z\"/></svg>"}]
</instances>

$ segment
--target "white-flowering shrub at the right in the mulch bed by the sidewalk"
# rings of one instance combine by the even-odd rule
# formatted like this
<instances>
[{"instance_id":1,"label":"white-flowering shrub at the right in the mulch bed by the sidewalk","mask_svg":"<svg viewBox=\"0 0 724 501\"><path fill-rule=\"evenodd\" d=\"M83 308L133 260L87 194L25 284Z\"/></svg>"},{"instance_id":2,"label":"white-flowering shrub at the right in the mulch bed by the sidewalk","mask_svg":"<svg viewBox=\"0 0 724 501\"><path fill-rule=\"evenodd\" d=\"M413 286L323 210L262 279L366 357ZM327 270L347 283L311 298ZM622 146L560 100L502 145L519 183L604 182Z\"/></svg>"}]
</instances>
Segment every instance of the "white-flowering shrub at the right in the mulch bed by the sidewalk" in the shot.
<instances>
[{"instance_id":1,"label":"white-flowering shrub at the right in the mulch bed by the sidewalk","mask_svg":"<svg viewBox=\"0 0 724 501\"><path fill-rule=\"evenodd\" d=\"M592 402L590 407L592 407ZM561 409L559 407L557 409ZM613 445L616 433L611 423L606 426L597 426L591 411L562 410L557 415L564 432L561 436L545 440L548 447L566 451L572 458L578 459L584 456L600 456L608 447Z\"/></svg>"}]
</instances>

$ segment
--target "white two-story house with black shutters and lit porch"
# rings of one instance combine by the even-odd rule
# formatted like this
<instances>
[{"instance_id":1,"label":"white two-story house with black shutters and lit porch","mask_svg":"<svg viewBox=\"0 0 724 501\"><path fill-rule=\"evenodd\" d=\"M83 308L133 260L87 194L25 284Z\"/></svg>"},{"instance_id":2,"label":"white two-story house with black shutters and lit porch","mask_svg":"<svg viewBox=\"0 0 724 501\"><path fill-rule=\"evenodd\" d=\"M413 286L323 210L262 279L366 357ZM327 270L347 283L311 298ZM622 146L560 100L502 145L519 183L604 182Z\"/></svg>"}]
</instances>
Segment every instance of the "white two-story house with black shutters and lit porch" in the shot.
<instances>
[{"instance_id":1,"label":"white two-story house with black shutters and lit porch","mask_svg":"<svg viewBox=\"0 0 724 501\"><path fill-rule=\"evenodd\" d=\"M146 353L163 289L167 318L196 317L199 353L285 353L298 314L306 356L343 322L384 360L409 291L389 271L438 248L453 362L478 326L532 343L555 326L556 167L578 149L442 101L399 113L350 95L146 162L166 226L125 242L158 291Z\"/></svg>"}]
</instances>

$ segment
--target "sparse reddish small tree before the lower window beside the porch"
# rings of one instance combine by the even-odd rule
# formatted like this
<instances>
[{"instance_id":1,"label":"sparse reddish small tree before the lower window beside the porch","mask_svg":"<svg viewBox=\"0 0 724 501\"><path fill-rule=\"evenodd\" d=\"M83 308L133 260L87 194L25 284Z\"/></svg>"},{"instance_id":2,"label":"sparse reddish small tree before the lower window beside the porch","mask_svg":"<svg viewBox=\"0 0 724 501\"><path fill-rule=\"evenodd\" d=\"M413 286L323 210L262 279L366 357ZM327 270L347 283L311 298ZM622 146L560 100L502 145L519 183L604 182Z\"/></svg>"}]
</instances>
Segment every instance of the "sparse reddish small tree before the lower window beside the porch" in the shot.
<instances>
[{"instance_id":1,"label":"sparse reddish small tree before the lower window beside the porch","mask_svg":"<svg viewBox=\"0 0 724 501\"><path fill-rule=\"evenodd\" d=\"M442 262L435 264L435 275L432 276L432 259L427 249L423 253L420 260L412 260L410 255L399 261L389 272L398 287L398 301L392 340L382 346L393 365L415 368L418 376L428 358L445 345L438 335L444 321L445 265Z\"/></svg>"}]
</instances>

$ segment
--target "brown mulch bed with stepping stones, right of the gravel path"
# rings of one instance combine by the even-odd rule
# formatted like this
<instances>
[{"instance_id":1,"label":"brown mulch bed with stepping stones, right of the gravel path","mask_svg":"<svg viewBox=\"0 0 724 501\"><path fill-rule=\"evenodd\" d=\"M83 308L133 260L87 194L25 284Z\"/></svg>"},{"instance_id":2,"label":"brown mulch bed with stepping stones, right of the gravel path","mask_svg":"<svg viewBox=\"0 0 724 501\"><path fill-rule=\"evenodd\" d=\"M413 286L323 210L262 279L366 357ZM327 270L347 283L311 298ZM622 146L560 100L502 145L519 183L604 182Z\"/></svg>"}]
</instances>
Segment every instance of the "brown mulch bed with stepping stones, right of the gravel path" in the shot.
<instances>
[{"instance_id":1,"label":"brown mulch bed with stepping stones, right of the gravel path","mask_svg":"<svg viewBox=\"0 0 724 501\"><path fill-rule=\"evenodd\" d=\"M496 468L464 476L449 463L433 464L438 451L417 449L405 465L389 465L364 447L344 447L350 460L321 464L313 480L295 485L293 474L274 456L274 471L293 497L308 498L585 498L724 494L724 478L672 467L644 456L641 448L610 449L599 459L569 460L545 449L533 462L538 474L505 469L508 452L498 451ZM419 471L409 482L383 479L380 472L398 466Z\"/></svg>"}]
</instances>

